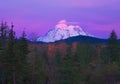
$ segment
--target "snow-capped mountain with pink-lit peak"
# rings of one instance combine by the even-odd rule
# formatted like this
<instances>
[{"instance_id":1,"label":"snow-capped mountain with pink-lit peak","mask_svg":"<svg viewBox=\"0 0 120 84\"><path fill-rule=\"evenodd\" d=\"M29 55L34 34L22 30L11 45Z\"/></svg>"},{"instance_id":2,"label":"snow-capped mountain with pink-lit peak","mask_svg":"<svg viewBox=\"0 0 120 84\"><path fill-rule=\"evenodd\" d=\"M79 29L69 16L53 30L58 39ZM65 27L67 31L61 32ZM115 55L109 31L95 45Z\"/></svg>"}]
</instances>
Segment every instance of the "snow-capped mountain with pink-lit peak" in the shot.
<instances>
[{"instance_id":1,"label":"snow-capped mountain with pink-lit peak","mask_svg":"<svg viewBox=\"0 0 120 84\"><path fill-rule=\"evenodd\" d=\"M78 25L67 25L66 20L61 20L55 26L55 28L51 29L44 36L40 36L37 41L42 42L55 42L62 39L67 39L69 37L74 36L93 36L84 32L83 29Z\"/></svg>"}]
</instances>

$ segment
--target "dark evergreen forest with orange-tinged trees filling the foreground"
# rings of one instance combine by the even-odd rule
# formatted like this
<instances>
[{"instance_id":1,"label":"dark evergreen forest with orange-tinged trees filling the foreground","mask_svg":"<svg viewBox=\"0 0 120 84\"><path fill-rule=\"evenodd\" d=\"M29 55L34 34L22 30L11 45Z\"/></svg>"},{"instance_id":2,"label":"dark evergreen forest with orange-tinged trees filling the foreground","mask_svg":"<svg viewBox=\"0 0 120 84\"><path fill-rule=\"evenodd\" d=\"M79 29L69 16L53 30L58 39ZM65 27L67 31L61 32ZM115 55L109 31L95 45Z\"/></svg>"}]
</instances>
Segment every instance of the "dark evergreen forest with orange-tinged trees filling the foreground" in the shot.
<instances>
[{"instance_id":1,"label":"dark evergreen forest with orange-tinged trees filling the foreground","mask_svg":"<svg viewBox=\"0 0 120 84\"><path fill-rule=\"evenodd\" d=\"M14 25L0 25L0 84L120 84L120 43L29 42Z\"/></svg>"}]
</instances>

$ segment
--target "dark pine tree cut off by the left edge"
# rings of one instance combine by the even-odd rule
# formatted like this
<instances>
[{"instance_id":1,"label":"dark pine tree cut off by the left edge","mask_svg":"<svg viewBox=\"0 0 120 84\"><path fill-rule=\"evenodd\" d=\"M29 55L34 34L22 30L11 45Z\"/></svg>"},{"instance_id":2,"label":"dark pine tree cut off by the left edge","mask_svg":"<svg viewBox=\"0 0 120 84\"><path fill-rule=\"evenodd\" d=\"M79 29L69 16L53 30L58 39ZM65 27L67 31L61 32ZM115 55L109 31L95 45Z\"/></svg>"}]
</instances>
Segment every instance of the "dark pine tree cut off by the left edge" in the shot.
<instances>
[{"instance_id":1,"label":"dark pine tree cut off by the left edge","mask_svg":"<svg viewBox=\"0 0 120 84\"><path fill-rule=\"evenodd\" d=\"M6 46L7 46L7 30L8 26L6 22L1 22L0 25L0 83L4 83L6 79L6 68L4 65Z\"/></svg>"}]
</instances>

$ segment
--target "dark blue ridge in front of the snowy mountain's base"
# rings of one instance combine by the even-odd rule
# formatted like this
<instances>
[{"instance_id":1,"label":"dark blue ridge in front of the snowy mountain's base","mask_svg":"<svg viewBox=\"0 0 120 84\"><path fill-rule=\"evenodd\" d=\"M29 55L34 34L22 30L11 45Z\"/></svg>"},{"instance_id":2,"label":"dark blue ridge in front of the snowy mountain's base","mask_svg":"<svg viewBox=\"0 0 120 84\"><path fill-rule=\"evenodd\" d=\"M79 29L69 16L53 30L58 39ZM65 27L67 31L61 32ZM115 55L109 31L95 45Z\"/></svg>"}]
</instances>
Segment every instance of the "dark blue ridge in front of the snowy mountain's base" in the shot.
<instances>
[{"instance_id":1,"label":"dark blue ridge in front of the snowy mountain's base","mask_svg":"<svg viewBox=\"0 0 120 84\"><path fill-rule=\"evenodd\" d=\"M71 44L74 42L82 42L82 43L90 43L90 44L106 44L108 42L108 39L101 39L101 38L96 38L96 37L79 35L79 36L70 37L70 38L55 41L55 42L48 43L48 42L38 41L37 43L39 43L39 44L52 44L52 43L61 43L61 42L64 42L67 44Z\"/></svg>"}]
</instances>

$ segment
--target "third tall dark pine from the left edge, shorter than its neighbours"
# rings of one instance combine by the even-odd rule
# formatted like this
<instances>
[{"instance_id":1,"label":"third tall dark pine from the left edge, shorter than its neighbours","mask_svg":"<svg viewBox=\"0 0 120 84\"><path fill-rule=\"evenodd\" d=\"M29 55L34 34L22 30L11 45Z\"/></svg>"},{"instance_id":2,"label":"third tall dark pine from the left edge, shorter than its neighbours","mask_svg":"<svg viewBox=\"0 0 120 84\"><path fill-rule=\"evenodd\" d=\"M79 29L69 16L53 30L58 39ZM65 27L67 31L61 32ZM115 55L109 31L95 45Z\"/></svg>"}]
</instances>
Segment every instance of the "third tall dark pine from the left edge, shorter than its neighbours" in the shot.
<instances>
[{"instance_id":1,"label":"third tall dark pine from the left edge, shorter than its neighbours","mask_svg":"<svg viewBox=\"0 0 120 84\"><path fill-rule=\"evenodd\" d=\"M18 57L18 75L19 75L19 81L22 83L28 82L28 53L29 53L29 48L28 48L28 42L26 39L26 34L25 31L23 31L22 36L20 39L17 41L16 45L16 56ZM21 77L21 78L20 78Z\"/></svg>"}]
</instances>

